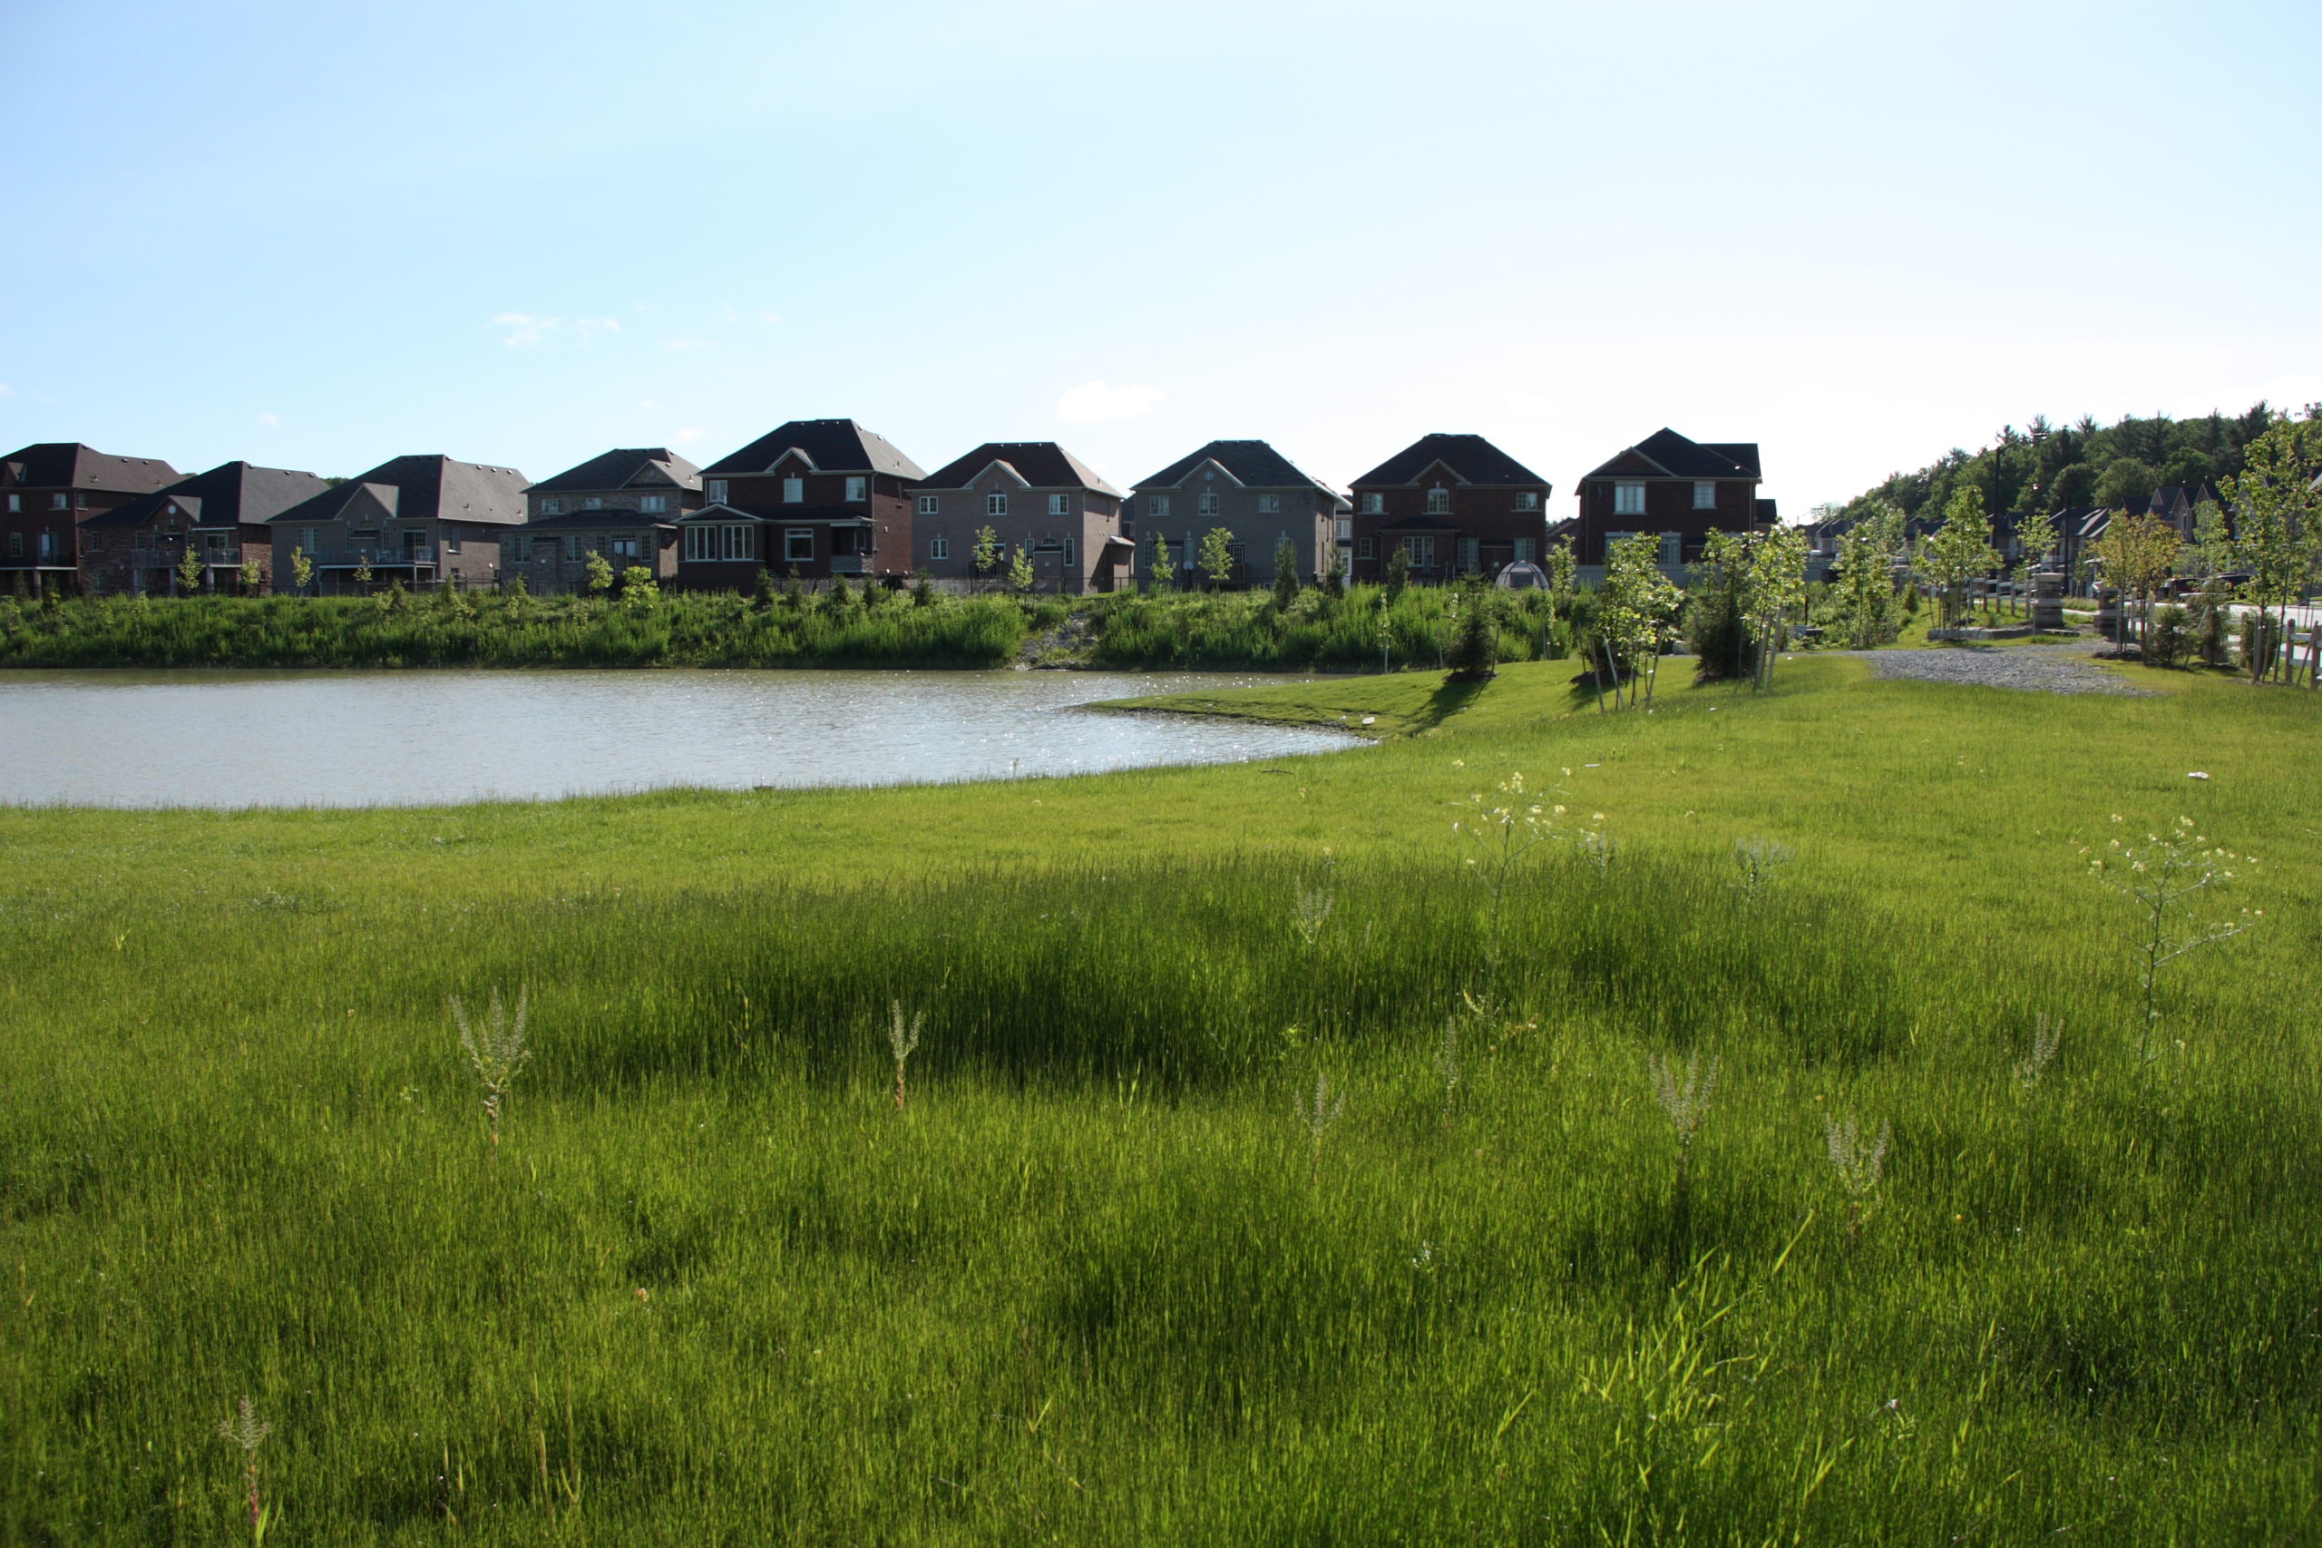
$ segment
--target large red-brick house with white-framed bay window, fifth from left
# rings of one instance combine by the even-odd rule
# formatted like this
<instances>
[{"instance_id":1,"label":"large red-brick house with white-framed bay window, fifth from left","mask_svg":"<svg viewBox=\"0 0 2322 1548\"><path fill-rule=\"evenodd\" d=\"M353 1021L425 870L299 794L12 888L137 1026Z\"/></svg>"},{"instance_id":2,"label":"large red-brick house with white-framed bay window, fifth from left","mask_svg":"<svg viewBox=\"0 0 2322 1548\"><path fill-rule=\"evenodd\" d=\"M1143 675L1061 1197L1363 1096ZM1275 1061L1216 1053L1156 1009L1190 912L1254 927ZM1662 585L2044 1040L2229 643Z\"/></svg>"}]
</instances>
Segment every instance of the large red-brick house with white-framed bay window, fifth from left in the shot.
<instances>
[{"instance_id":1,"label":"large red-brick house with white-framed bay window, fifth from left","mask_svg":"<svg viewBox=\"0 0 2322 1548\"><path fill-rule=\"evenodd\" d=\"M678 518L678 583L748 590L766 569L896 581L922 476L852 418L794 418L701 470L701 507Z\"/></svg>"}]
</instances>

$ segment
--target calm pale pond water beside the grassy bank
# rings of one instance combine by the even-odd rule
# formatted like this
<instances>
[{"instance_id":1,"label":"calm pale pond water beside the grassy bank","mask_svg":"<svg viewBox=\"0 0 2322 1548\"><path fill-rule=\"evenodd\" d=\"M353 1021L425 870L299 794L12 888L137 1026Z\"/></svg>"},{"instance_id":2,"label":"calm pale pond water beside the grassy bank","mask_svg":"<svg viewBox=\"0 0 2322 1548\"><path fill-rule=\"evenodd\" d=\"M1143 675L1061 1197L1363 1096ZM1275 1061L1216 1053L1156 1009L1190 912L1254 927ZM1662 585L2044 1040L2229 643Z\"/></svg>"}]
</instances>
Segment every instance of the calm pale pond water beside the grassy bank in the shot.
<instances>
[{"instance_id":1,"label":"calm pale pond water beside the grassy bank","mask_svg":"<svg viewBox=\"0 0 2322 1548\"><path fill-rule=\"evenodd\" d=\"M0 802L413 807L894 786L1358 746L1094 700L1145 672L0 672Z\"/></svg>"}]
</instances>

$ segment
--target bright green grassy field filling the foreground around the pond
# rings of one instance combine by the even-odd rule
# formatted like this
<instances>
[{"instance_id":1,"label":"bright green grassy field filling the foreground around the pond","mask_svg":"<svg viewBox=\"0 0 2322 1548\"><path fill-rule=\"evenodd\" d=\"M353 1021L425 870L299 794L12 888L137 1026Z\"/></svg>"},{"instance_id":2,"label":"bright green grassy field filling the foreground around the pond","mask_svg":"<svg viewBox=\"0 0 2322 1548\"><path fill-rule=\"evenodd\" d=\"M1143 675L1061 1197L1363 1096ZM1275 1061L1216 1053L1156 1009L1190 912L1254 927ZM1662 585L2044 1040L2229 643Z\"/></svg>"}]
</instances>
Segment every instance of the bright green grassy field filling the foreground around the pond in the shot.
<instances>
[{"instance_id":1,"label":"bright green grassy field filling the foreground around the pond","mask_svg":"<svg viewBox=\"0 0 2322 1548\"><path fill-rule=\"evenodd\" d=\"M276 1543L2313 1541L2322 704L2169 686L1549 662L1254 690L1393 739L1224 769L0 811L0 1541L246 1539L244 1395ZM1512 772L1567 837L1495 953ZM2078 848L2178 816L2264 918L2143 1060Z\"/></svg>"}]
</instances>

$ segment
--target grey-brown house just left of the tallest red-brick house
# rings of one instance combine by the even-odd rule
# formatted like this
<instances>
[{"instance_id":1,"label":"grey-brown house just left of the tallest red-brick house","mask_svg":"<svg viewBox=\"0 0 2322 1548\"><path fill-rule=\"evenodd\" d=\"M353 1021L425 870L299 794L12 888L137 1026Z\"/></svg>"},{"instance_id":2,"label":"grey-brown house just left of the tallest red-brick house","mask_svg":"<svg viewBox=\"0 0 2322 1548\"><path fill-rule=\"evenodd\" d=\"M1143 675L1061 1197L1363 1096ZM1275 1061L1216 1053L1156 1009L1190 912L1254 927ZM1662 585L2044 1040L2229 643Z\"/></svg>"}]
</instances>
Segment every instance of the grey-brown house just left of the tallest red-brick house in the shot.
<instances>
[{"instance_id":1,"label":"grey-brown house just left of the tallest red-brick house","mask_svg":"<svg viewBox=\"0 0 2322 1548\"><path fill-rule=\"evenodd\" d=\"M622 446L525 490L527 521L502 544L502 583L585 590L592 553L615 569L678 574L678 521L701 509L701 470L666 446Z\"/></svg>"}]
</instances>

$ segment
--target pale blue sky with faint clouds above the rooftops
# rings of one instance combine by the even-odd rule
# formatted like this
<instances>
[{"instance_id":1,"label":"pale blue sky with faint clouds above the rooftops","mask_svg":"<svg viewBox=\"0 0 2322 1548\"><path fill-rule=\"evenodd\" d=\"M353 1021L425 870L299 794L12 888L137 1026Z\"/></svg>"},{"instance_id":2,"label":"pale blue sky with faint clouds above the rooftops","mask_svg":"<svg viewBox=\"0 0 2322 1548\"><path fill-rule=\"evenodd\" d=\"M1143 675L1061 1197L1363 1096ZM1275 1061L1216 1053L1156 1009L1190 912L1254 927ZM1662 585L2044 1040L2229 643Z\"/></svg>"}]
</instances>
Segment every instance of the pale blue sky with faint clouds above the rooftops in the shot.
<instances>
[{"instance_id":1,"label":"pale blue sky with faint clouds above the rooftops","mask_svg":"<svg viewBox=\"0 0 2322 1548\"><path fill-rule=\"evenodd\" d=\"M1674 425L1802 516L2322 397L2322 7L0 0L0 444L1112 481Z\"/></svg>"}]
</instances>

